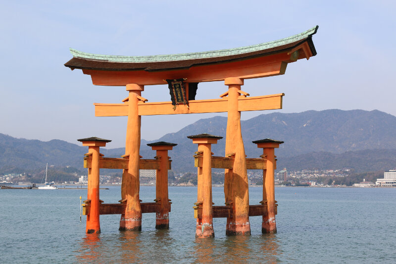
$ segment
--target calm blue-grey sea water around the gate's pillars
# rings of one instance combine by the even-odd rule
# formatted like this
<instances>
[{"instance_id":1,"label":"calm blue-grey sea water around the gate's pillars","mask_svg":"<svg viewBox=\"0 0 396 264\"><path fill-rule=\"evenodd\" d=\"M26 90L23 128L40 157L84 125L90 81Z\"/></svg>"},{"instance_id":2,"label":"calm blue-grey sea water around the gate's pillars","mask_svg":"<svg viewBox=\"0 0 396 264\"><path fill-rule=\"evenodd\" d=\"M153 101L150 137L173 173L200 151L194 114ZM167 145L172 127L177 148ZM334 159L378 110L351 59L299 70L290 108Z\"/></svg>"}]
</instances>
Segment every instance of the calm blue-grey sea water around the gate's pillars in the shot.
<instances>
[{"instance_id":1,"label":"calm blue-grey sea water around the gate's pillars","mask_svg":"<svg viewBox=\"0 0 396 264\"><path fill-rule=\"evenodd\" d=\"M120 187L100 191L117 203ZM87 190L0 190L0 263L396 263L396 188L276 188L278 233L261 234L250 217L250 237L196 239L192 207L197 187L169 187L170 229L155 230L143 214L141 232L120 232L120 215L102 215L99 236L85 234L79 197ZM262 200L249 188L250 204ZM141 187L152 202L155 187ZM213 202L224 204L223 188Z\"/></svg>"}]
</instances>

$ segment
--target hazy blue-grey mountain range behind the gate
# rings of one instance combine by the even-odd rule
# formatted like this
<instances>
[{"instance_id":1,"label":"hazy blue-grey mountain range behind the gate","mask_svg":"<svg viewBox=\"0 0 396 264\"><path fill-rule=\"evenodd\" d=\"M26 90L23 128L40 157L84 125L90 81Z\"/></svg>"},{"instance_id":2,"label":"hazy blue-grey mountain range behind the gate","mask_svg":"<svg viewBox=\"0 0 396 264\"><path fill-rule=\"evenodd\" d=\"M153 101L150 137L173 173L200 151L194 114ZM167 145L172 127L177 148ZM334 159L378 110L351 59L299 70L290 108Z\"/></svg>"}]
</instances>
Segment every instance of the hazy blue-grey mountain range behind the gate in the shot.
<instances>
[{"instance_id":1,"label":"hazy blue-grey mountain range behind the gate","mask_svg":"<svg viewBox=\"0 0 396 264\"><path fill-rule=\"evenodd\" d=\"M212 152L215 156L224 156L226 127L226 117L200 119L155 141L177 143L178 146L169 152L172 169L192 171L196 169L192 156L197 145L187 136L200 133L223 136L224 139L212 146ZM330 109L261 114L242 121L242 134L249 158L258 158L262 154L251 141L264 138L285 141L276 150L278 168L349 167L356 171L374 171L396 167L396 117L379 110ZM100 137L99 131L97 136ZM144 158L155 156L146 145L149 142L142 140L141 155ZM86 147L61 140L42 142L0 134L0 173L42 168L47 162L85 171L82 158L86 152ZM102 149L101 153L105 157L120 157L124 149Z\"/></svg>"}]
</instances>

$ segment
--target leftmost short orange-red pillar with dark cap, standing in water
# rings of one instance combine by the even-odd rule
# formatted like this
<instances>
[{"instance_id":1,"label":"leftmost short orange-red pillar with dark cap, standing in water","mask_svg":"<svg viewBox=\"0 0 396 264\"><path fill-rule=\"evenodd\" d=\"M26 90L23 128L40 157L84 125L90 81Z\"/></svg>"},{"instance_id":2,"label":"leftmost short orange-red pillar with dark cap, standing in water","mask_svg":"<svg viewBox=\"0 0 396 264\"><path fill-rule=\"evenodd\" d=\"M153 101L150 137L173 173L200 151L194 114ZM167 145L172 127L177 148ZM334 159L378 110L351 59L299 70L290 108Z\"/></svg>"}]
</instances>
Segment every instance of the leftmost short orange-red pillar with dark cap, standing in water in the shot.
<instances>
[{"instance_id":1,"label":"leftmost short orange-red pillar with dark cap, standing in water","mask_svg":"<svg viewBox=\"0 0 396 264\"><path fill-rule=\"evenodd\" d=\"M100 233L99 221L99 147L105 147L111 140L97 137L78 139L83 146L88 146L88 154L92 155L92 167L88 169L88 193L87 203L91 205L90 214L87 215L86 232L88 234Z\"/></svg>"}]
</instances>

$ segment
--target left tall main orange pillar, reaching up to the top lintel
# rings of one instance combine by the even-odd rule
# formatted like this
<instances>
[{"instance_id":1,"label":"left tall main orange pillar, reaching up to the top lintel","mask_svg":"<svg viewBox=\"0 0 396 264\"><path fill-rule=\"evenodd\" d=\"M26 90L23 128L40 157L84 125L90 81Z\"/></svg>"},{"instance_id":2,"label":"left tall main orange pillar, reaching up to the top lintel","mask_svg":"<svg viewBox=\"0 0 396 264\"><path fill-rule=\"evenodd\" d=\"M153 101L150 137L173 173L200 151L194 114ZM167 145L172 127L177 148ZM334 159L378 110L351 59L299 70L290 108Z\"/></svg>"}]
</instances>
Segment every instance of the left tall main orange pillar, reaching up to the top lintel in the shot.
<instances>
[{"instance_id":1,"label":"left tall main orange pillar, reaching up to the top lintel","mask_svg":"<svg viewBox=\"0 0 396 264\"><path fill-rule=\"evenodd\" d=\"M121 201L127 204L125 213L121 214L119 230L142 230L142 209L139 200L139 151L141 116L138 112L138 102L143 85L127 84L128 123L125 143L125 156L129 156L128 169L122 173Z\"/></svg>"}]
</instances>

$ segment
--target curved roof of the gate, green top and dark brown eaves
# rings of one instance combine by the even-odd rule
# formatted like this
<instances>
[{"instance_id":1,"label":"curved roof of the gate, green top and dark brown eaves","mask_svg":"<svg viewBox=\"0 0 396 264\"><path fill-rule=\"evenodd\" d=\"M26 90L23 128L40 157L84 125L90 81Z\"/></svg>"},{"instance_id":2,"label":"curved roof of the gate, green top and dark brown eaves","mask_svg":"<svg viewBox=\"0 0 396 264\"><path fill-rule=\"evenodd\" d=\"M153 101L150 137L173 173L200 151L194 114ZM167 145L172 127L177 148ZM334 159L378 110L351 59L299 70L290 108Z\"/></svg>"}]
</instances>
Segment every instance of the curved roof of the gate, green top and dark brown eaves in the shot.
<instances>
[{"instance_id":1,"label":"curved roof of the gate, green top and dark brown eaves","mask_svg":"<svg viewBox=\"0 0 396 264\"><path fill-rule=\"evenodd\" d=\"M199 53L180 53L150 56L117 56L84 53L70 49L73 58L64 65L72 69L95 69L110 71L163 71L170 69L189 68L194 65L229 62L234 60L258 57L272 53L291 50L303 42L307 42L312 55L316 50L312 42L312 35L318 26L300 34L277 41L240 47L228 50L217 50Z\"/></svg>"}]
</instances>

